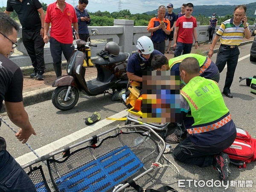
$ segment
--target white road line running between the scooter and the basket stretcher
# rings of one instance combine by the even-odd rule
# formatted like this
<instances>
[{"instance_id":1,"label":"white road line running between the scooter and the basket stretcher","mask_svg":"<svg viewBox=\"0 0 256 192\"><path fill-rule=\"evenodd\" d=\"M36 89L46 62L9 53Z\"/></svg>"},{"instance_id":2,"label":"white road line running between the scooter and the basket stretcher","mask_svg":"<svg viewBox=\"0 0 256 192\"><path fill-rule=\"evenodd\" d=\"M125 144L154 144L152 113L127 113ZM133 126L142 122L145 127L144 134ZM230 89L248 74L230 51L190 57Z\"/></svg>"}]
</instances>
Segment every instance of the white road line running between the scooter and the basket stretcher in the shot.
<instances>
[{"instance_id":1,"label":"white road line running between the scooter and the basket stretcher","mask_svg":"<svg viewBox=\"0 0 256 192\"><path fill-rule=\"evenodd\" d=\"M123 110L115 115L110 116L110 118L122 118L124 116L127 116L128 111ZM35 152L41 157L43 155L52 153L53 151L57 149L61 149L62 147L68 145L69 143L72 143L76 140L79 140L80 138L92 133L93 131L99 130L100 128L111 124L114 122L113 120L107 120L103 119L93 125L87 126L79 131L74 132L73 134L67 135L66 137L63 137L59 140L56 140L52 143L49 143L41 148L38 148L35 150ZM33 160L36 160L37 157L32 152L29 152L27 154L24 154L20 157L17 157L15 160L21 165L26 165L27 163L32 162Z\"/></svg>"}]
</instances>

